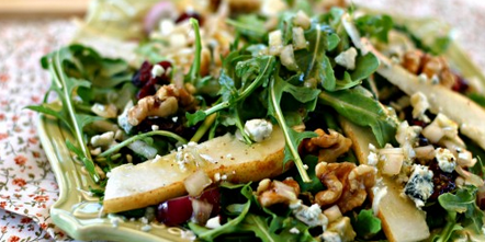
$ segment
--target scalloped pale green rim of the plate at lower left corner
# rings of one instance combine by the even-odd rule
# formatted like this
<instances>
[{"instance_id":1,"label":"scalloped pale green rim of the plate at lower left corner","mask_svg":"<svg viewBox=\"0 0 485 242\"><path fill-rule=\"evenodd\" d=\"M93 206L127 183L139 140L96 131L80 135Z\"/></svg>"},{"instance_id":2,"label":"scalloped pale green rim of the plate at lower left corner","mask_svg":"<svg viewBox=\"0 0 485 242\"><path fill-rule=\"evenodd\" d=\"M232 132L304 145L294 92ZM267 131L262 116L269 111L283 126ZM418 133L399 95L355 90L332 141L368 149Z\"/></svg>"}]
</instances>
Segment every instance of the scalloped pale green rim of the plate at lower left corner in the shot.
<instances>
[{"instance_id":1,"label":"scalloped pale green rim of the plate at lower left corner","mask_svg":"<svg viewBox=\"0 0 485 242\"><path fill-rule=\"evenodd\" d=\"M69 237L76 240L110 240L116 239L116 241L153 241L153 242L170 242L170 241L189 241L181 237L173 238L176 234L169 233L168 228L154 228L150 232L144 232L139 229L139 222L136 221L123 221L117 227L114 227L110 221L110 218L97 218L97 219L80 219L72 215L71 211L64 209L65 206L75 206L77 204L69 204L70 196L77 196L80 201L87 201L82 199L82 195L79 192L79 187L76 187L76 182L72 180L79 177L68 176L61 165L61 160L74 161L70 157L61 155L59 152L67 150L65 142L63 147L55 146L55 139L63 139L66 131L60 127L60 123L54 118L47 117L47 115L40 114L37 116L37 128L41 143L45 150L47 160L52 165L52 170L55 174L56 181L59 187L59 197L53 204L50 208L50 217L53 222L66 232ZM57 132L57 134L56 134ZM57 136L52 136L57 135ZM60 137L58 137L60 136ZM80 175L80 174L78 174ZM78 181L79 182L79 181ZM79 203L78 203L79 204ZM151 231L166 232L167 238L160 237Z\"/></svg>"}]
</instances>

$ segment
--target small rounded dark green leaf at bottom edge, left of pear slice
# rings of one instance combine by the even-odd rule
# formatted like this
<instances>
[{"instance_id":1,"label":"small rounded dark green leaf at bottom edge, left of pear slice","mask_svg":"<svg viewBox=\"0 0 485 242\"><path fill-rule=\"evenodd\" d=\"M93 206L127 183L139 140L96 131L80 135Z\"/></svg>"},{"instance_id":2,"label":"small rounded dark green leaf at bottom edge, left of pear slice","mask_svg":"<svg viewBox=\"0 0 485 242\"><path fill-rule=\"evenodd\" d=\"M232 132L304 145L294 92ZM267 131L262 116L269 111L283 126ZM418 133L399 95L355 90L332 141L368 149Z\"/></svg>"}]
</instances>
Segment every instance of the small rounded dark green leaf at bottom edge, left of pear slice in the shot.
<instances>
[{"instance_id":1,"label":"small rounded dark green leaf at bottom edge, left of pear slice","mask_svg":"<svg viewBox=\"0 0 485 242\"><path fill-rule=\"evenodd\" d=\"M352 224L360 238L370 238L381 231L381 219L374 216L372 209L362 209Z\"/></svg>"}]
</instances>

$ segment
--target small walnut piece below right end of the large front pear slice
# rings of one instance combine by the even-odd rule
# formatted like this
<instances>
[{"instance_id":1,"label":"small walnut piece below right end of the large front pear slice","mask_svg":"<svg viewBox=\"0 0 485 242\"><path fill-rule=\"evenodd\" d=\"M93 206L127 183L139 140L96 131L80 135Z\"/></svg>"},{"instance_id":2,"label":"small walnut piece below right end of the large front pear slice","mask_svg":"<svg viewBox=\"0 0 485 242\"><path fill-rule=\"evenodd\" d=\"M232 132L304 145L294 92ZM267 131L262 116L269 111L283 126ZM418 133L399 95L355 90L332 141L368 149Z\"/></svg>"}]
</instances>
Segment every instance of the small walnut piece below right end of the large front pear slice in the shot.
<instances>
[{"instance_id":1,"label":"small walnut piece below right end of the large front pear slice","mask_svg":"<svg viewBox=\"0 0 485 242\"><path fill-rule=\"evenodd\" d=\"M270 207L275 204L290 205L295 201L300 194L300 185L293 178L286 178L283 182L262 180L257 189L258 200L263 207Z\"/></svg>"}]
</instances>

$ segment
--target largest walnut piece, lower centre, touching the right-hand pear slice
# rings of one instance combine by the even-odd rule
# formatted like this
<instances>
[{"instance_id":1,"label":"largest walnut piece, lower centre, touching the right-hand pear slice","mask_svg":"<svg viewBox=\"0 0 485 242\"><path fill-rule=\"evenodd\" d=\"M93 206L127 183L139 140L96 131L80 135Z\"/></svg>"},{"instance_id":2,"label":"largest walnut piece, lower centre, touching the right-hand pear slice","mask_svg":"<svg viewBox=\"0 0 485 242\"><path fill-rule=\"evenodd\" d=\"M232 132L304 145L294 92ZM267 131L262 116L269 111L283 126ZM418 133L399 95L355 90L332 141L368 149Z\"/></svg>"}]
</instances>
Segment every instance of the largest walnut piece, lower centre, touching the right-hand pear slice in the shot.
<instances>
[{"instance_id":1,"label":"largest walnut piece, lower centre, touching the right-hand pear slice","mask_svg":"<svg viewBox=\"0 0 485 242\"><path fill-rule=\"evenodd\" d=\"M366 189L375 184L375 169L365 164L320 162L315 172L327 187L315 195L315 201L322 207L338 205L342 214L361 206Z\"/></svg>"}]
</instances>

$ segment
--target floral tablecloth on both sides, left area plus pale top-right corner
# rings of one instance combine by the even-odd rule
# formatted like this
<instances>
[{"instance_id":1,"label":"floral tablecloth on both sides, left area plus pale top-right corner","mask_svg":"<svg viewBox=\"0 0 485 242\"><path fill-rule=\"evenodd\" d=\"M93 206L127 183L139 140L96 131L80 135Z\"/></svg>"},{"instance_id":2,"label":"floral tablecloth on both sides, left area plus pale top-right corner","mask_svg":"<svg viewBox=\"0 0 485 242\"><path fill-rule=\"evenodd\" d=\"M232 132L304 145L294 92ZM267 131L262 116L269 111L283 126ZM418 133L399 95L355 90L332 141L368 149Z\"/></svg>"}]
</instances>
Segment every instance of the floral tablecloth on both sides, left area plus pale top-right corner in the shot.
<instances>
[{"instance_id":1,"label":"floral tablecloth on both sides, left area plus pale top-right corner","mask_svg":"<svg viewBox=\"0 0 485 242\"><path fill-rule=\"evenodd\" d=\"M353 0L370 8L413 16L436 16L455 27L455 37L485 69L485 1ZM48 208L58 196L36 134L38 104L50 81L40 58L69 42L70 19L0 19L0 241L70 240L56 229Z\"/></svg>"}]
</instances>

